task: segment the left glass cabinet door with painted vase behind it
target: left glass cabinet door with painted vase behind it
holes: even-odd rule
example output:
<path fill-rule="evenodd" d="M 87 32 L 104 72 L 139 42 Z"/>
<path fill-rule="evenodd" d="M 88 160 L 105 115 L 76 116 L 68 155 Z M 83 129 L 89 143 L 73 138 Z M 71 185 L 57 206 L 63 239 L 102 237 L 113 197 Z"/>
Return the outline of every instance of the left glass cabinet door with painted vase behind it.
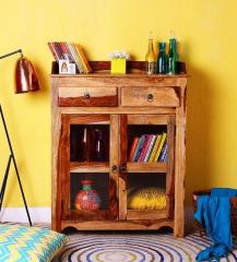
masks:
<path fill-rule="evenodd" d="M 117 169 L 110 163 L 117 166 L 115 126 L 115 116 L 62 115 L 62 219 L 117 218 Z"/>

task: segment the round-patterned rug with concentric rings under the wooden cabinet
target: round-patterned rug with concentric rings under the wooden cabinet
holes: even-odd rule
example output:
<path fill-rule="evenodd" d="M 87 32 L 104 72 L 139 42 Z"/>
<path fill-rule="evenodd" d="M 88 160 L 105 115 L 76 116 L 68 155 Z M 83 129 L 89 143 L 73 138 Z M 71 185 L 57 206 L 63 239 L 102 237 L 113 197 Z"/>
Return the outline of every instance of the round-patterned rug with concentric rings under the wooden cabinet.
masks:
<path fill-rule="evenodd" d="M 54 262 L 191 262 L 210 246 L 208 237 L 190 234 L 183 239 L 154 233 L 74 233 Z M 237 242 L 228 259 L 237 261 Z"/>

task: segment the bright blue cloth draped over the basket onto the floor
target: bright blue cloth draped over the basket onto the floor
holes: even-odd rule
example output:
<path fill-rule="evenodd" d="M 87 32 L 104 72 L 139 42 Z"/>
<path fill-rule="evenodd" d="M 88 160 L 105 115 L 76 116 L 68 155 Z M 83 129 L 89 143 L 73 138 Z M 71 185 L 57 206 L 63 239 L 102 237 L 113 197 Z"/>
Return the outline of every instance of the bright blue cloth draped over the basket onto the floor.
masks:
<path fill-rule="evenodd" d="M 213 246 L 202 250 L 195 258 L 201 261 L 220 261 L 232 250 L 230 203 L 237 190 L 227 188 L 212 189 L 211 195 L 198 196 L 194 218 L 205 228 Z"/>

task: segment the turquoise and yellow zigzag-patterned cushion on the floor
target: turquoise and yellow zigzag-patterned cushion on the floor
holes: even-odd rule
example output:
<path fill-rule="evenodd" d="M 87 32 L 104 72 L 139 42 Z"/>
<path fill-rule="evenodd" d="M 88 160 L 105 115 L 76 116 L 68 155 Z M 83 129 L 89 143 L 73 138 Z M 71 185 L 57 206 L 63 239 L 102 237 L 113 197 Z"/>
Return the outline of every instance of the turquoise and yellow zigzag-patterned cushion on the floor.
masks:
<path fill-rule="evenodd" d="M 67 242 L 47 228 L 0 224 L 0 262 L 48 262 Z"/>

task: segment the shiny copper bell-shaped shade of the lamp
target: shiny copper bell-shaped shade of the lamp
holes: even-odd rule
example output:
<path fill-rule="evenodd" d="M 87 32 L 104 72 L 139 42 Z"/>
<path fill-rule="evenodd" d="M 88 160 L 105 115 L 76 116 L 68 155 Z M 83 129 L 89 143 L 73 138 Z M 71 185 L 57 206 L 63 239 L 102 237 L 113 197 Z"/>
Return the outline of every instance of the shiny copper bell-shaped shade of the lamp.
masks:
<path fill-rule="evenodd" d="M 19 58 L 15 64 L 15 94 L 38 90 L 38 79 L 33 64 L 26 57 Z"/>

